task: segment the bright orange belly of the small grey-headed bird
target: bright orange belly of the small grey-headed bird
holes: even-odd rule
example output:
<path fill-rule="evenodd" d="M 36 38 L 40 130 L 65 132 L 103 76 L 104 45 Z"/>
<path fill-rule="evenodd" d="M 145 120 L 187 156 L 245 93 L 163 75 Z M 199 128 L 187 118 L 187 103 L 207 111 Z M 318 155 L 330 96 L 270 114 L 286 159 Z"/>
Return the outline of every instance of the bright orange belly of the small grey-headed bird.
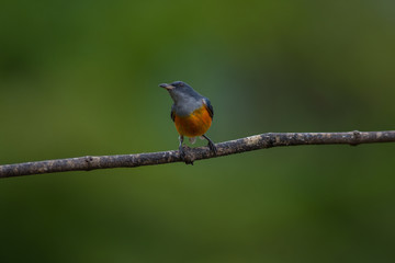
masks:
<path fill-rule="evenodd" d="M 205 108 L 202 106 L 201 108 L 195 110 L 191 115 L 180 117 L 174 116 L 176 128 L 182 136 L 195 137 L 204 135 L 210 128 L 212 123 L 212 118 Z"/>

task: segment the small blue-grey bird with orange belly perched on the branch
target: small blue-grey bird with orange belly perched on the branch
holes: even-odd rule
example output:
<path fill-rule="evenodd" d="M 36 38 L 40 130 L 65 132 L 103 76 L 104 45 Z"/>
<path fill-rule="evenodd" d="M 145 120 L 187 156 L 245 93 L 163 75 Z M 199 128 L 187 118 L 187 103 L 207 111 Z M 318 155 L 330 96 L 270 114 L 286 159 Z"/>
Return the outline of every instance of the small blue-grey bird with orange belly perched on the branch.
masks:
<path fill-rule="evenodd" d="M 174 81 L 171 84 L 162 83 L 159 87 L 168 90 L 174 102 L 171 106 L 171 119 L 180 135 L 181 158 L 185 157 L 182 148 L 184 136 L 189 137 L 191 144 L 195 142 L 196 137 L 208 140 L 208 148 L 216 155 L 217 150 L 214 142 L 205 135 L 214 115 L 210 100 L 182 81 Z"/>

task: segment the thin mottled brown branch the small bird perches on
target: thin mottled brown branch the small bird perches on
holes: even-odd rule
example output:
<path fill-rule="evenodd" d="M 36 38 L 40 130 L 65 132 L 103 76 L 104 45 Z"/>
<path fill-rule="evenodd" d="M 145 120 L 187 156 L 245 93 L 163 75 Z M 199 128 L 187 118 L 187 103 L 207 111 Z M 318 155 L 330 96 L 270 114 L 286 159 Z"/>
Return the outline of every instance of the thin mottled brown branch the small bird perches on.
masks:
<path fill-rule="evenodd" d="M 278 146 L 298 145 L 351 145 L 395 142 L 395 130 L 386 132 L 349 132 L 349 133 L 268 133 L 241 139 L 217 144 L 217 155 L 214 156 L 208 147 L 189 148 L 185 160 L 181 160 L 179 151 L 160 151 L 149 153 L 78 157 L 37 162 L 24 162 L 0 165 L 0 178 L 11 178 L 41 173 L 90 171 L 109 168 L 135 168 L 156 165 L 171 162 L 223 157 L 245 151 L 266 149 Z"/>

